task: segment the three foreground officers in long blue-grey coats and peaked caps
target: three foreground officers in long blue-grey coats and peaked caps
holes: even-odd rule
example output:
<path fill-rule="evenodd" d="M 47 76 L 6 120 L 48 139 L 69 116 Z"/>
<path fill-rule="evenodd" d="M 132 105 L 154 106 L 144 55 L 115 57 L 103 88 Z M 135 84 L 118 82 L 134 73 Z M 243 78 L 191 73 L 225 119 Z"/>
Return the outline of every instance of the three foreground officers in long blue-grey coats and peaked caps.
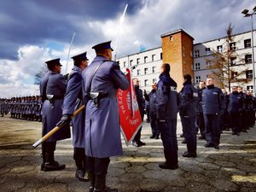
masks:
<path fill-rule="evenodd" d="M 116 192 L 106 186 L 106 175 L 110 157 L 123 154 L 116 94 L 118 89 L 128 89 L 129 81 L 119 64 L 112 61 L 111 41 L 92 49 L 96 57 L 90 65 L 86 52 L 72 57 L 73 69 L 67 79 L 61 75 L 60 59 L 46 61 L 49 72 L 40 83 L 42 133 L 46 135 L 55 125 L 61 130 L 42 143 L 41 171 L 66 167 L 55 161 L 55 147 L 57 141 L 71 137 L 72 121 L 75 177 L 89 180 L 90 192 Z M 83 105 L 82 112 L 73 117 Z"/>

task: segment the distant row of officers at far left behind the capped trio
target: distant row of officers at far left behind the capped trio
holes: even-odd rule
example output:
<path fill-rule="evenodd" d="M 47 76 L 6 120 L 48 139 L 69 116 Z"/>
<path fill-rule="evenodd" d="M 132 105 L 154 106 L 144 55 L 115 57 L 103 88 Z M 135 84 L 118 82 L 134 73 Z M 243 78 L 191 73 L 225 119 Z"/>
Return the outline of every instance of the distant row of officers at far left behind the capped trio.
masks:
<path fill-rule="evenodd" d="M 11 99 L 1 99 L 0 113 L 10 113 L 10 118 L 25 119 L 32 121 L 42 121 L 43 103 L 40 96 L 20 96 L 12 97 Z"/>

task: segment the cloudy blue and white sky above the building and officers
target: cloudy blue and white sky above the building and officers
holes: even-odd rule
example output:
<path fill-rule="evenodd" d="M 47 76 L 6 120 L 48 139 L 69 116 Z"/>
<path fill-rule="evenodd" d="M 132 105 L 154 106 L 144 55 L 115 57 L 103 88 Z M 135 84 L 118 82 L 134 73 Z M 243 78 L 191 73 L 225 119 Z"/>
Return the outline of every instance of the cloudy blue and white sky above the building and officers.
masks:
<path fill-rule="evenodd" d="M 87 51 L 92 61 L 91 47 L 108 40 L 119 58 L 158 48 L 160 35 L 180 28 L 194 44 L 224 37 L 230 23 L 233 34 L 250 31 L 241 11 L 255 6 L 255 0 L 1 0 L 0 98 L 39 94 L 34 77 L 45 61 L 61 58 L 66 74 L 71 56 Z"/>

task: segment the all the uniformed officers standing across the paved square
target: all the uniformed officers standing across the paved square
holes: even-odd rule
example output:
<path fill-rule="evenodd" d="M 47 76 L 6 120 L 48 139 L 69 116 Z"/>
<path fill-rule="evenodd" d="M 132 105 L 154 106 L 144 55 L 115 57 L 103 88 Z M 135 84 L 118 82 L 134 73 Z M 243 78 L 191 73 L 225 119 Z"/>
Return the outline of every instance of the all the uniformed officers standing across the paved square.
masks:
<path fill-rule="evenodd" d="M 54 135 L 42 143 L 43 163 L 41 171 L 65 169 L 64 164 L 55 161 L 56 142 L 70 138 L 70 122 L 73 124 L 73 159 L 77 170 L 75 177 L 80 181 L 90 181 L 90 192 L 117 192 L 106 186 L 106 176 L 110 157 L 123 154 L 119 109 L 116 94 L 118 89 L 127 90 L 129 81 L 121 72 L 119 64 L 112 61 L 111 42 L 92 47 L 96 57 L 88 65 L 86 52 L 73 56 L 73 69 L 65 78 L 61 75 L 60 59 L 46 61 L 49 72 L 40 83 L 40 97 L 12 98 L 8 108 L 12 118 L 38 119 L 42 114 L 42 136 L 55 125 L 61 127 Z M 206 139 L 206 148 L 218 149 L 221 131 L 232 128 L 233 135 L 239 135 L 255 123 L 255 98 L 250 91 L 232 87 L 225 92 L 214 86 L 214 79 L 207 78 L 200 88 L 192 85 L 192 77 L 183 75 L 183 88 L 177 92 L 177 83 L 170 77 L 171 67 L 164 63 L 160 67 L 160 77 L 152 91 L 144 94 L 148 102 L 152 136 L 161 138 L 166 161 L 160 163 L 162 169 L 177 169 L 177 113 L 179 112 L 184 143 L 187 151 L 183 157 L 197 156 L 197 131 L 200 139 Z M 133 79 L 137 102 L 143 119 L 145 100 L 139 80 Z M 1 103 L 5 103 L 3 101 Z M 43 105 L 42 105 L 43 103 Z M 81 113 L 73 118 L 73 113 L 84 105 Z M 1 104 L 1 113 L 5 105 Z M 39 110 L 40 109 L 40 110 Z M 42 109 L 42 110 L 41 110 Z M 41 113 L 40 113 L 41 112 Z M 8 113 L 8 112 L 7 112 Z M 137 131 L 132 144 L 142 147 L 141 129 Z"/>

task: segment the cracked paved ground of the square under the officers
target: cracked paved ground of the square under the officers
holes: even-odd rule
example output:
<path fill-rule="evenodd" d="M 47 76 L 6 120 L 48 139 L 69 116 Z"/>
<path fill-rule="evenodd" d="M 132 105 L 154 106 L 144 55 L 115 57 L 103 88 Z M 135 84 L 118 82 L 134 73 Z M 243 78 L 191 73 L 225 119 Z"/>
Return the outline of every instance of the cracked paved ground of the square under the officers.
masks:
<path fill-rule="evenodd" d="M 177 135 L 181 132 L 178 123 Z M 41 135 L 41 123 L 0 117 L 0 191 L 76 192 L 88 191 L 89 183 L 74 178 L 71 140 L 57 143 L 55 159 L 67 168 L 60 172 L 40 171 L 40 147 L 32 148 Z M 161 170 L 164 161 L 161 140 L 149 139 L 143 125 L 142 148 L 126 147 L 124 155 L 113 158 L 108 169 L 108 185 L 119 192 L 169 191 L 256 191 L 256 128 L 241 136 L 224 131 L 220 149 L 204 148 L 198 141 L 198 157 L 183 158 L 186 150 L 178 139 L 179 168 Z"/>

